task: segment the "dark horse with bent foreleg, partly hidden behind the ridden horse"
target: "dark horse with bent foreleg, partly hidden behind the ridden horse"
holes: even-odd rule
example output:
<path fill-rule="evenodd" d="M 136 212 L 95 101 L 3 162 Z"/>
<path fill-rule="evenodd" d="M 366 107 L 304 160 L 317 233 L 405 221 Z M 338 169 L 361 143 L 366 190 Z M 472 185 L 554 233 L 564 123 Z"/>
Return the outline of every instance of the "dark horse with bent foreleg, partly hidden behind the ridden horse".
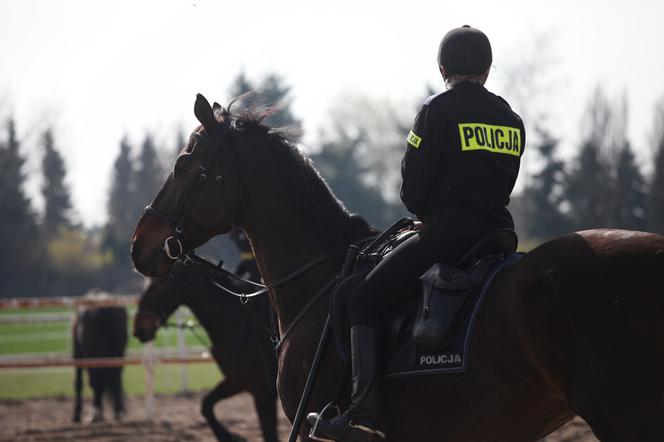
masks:
<path fill-rule="evenodd" d="M 258 420 L 266 442 L 277 437 L 277 361 L 269 336 L 252 320 L 240 300 L 220 293 L 200 277 L 192 264 L 174 264 L 173 275 L 152 278 L 141 294 L 134 317 L 134 336 L 141 342 L 155 338 L 157 329 L 180 306 L 191 309 L 212 341 L 211 353 L 224 378 L 201 402 L 201 414 L 220 442 L 241 439 L 217 420 L 214 405 L 243 391 L 254 399 Z M 267 297 L 253 300 L 256 314 L 264 324 L 271 315 Z"/>

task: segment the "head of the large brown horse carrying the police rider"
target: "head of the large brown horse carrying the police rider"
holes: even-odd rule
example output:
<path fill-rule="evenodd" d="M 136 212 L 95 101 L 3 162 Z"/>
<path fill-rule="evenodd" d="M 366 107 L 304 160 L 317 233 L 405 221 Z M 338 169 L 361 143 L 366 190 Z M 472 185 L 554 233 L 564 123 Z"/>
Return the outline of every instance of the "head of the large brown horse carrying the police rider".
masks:
<path fill-rule="evenodd" d="M 201 94 L 194 114 L 201 125 L 132 236 L 132 261 L 146 276 L 167 274 L 180 256 L 230 231 L 238 216 L 233 195 L 238 195 L 240 180 L 228 167 L 233 155 L 230 114 L 217 103 L 210 106 Z"/>

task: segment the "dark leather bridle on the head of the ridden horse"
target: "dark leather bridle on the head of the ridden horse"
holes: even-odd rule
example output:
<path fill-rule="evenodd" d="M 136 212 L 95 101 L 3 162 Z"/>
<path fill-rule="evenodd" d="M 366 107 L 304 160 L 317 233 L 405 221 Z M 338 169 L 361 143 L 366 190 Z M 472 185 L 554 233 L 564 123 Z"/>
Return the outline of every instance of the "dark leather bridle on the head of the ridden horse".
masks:
<path fill-rule="evenodd" d="M 143 211 L 144 215 L 153 216 L 154 218 L 157 218 L 160 222 L 170 226 L 172 234 L 164 240 L 163 251 L 171 261 L 176 261 L 182 255 L 184 255 L 185 252 L 188 250 L 188 248 L 186 248 L 183 245 L 183 240 L 182 240 L 183 238 L 182 234 L 184 233 L 184 226 L 187 220 L 189 219 L 191 209 L 194 207 L 194 204 L 196 203 L 198 196 L 200 195 L 201 191 L 203 190 L 203 187 L 205 186 L 205 183 L 207 182 L 208 172 L 211 170 L 211 168 L 215 167 L 215 169 L 217 169 L 216 170 L 217 175 L 215 177 L 215 181 L 217 183 L 221 183 L 222 181 L 221 173 L 219 173 L 218 167 L 216 167 L 217 165 L 214 160 L 217 155 L 217 152 L 221 150 L 221 146 L 229 131 L 230 124 L 231 124 L 230 117 L 224 118 L 224 121 L 221 123 L 221 127 L 219 127 L 217 135 L 212 141 L 210 141 L 210 139 L 206 135 L 200 132 L 194 133 L 193 136 L 197 140 L 196 144 L 198 144 L 199 141 L 211 144 L 212 152 L 210 152 L 210 156 L 200 167 L 198 172 L 198 178 L 189 188 L 188 192 L 185 194 L 184 205 L 182 205 L 182 207 L 180 207 L 180 210 L 176 212 L 176 216 L 174 217 L 175 221 L 173 221 L 168 216 L 166 216 L 162 212 L 152 207 L 151 204 L 148 204 L 145 207 L 145 210 Z"/>

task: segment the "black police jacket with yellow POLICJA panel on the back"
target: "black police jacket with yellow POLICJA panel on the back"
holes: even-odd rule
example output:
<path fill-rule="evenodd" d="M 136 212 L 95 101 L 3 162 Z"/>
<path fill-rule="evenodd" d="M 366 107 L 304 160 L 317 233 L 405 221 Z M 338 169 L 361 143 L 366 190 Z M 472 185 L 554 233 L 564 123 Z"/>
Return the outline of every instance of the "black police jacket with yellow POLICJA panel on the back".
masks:
<path fill-rule="evenodd" d="M 434 95 L 408 135 L 401 199 L 446 234 L 513 228 L 506 206 L 525 141 L 521 118 L 483 86 L 460 83 Z"/>

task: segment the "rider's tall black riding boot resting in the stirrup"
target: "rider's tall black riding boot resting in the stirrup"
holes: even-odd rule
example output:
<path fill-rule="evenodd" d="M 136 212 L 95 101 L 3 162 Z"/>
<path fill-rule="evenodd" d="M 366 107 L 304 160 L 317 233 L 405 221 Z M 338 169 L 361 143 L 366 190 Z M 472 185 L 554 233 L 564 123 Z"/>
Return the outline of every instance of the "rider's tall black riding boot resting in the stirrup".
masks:
<path fill-rule="evenodd" d="M 367 325 L 351 327 L 350 347 L 353 367 L 350 407 L 329 421 L 321 419 L 318 433 L 335 441 L 366 442 L 372 435 L 384 438 L 385 433 L 378 429 L 382 398 L 376 329 Z M 307 420 L 314 424 L 318 413 L 309 414 Z"/>

